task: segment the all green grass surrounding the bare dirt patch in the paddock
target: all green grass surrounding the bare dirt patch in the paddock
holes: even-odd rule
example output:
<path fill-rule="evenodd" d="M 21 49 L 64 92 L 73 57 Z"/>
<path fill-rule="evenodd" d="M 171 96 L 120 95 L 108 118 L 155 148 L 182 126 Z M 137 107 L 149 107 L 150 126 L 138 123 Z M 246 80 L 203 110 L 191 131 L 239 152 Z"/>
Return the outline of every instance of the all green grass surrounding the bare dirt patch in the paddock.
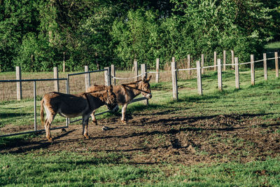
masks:
<path fill-rule="evenodd" d="M 223 73 L 223 91 L 219 92 L 217 74 L 208 72 L 202 78 L 202 96 L 197 95 L 195 78 L 179 80 L 177 102 L 172 99 L 172 83 L 153 83 L 150 105 L 145 106 L 143 102 L 130 104 L 127 113 L 145 111 L 152 114 L 154 111 L 169 110 L 173 116 L 251 114 L 277 120 L 280 113 L 280 79 L 274 77 L 274 70 L 268 73 L 268 81 L 264 81 L 262 70 L 257 69 L 255 85 L 251 85 L 248 69 L 241 71 L 241 89 L 236 90 L 234 71 L 226 71 Z M 33 123 L 33 101 L 2 102 L 0 113 L 0 126 Z M 98 118 L 112 115 L 107 113 Z M 64 118 L 57 118 L 55 123 L 60 120 Z M 209 137 L 211 141 L 225 141 L 212 135 Z M 0 148 L 34 136 L 0 138 Z M 156 141 L 165 141 L 165 137 L 159 134 Z M 251 146 L 244 139 L 227 141 L 235 142 L 236 146 Z M 197 153 L 207 155 L 207 152 Z M 280 158 L 256 159 L 246 164 L 236 160 L 190 167 L 165 162 L 130 165 L 128 160 L 130 158 L 122 152 L 61 153 L 42 150 L 41 153 L 0 154 L 0 186 L 279 186 L 280 183 Z"/>

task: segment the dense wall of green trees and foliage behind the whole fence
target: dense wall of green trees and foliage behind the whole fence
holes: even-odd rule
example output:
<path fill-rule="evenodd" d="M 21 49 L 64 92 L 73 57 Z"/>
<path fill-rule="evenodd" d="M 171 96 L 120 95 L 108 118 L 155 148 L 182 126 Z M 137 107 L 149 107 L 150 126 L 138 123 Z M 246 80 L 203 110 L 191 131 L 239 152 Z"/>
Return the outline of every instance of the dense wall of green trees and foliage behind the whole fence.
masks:
<path fill-rule="evenodd" d="M 161 65 L 172 56 L 235 50 L 241 60 L 277 41 L 280 2 L 262 0 L 0 1 L 0 69 L 48 71 Z"/>

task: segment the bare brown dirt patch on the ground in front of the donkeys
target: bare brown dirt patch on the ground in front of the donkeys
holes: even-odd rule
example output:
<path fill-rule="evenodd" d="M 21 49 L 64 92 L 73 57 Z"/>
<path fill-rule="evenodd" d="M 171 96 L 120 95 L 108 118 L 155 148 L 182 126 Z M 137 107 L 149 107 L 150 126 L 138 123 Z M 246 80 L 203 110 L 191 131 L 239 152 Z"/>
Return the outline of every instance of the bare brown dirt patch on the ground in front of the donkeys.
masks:
<path fill-rule="evenodd" d="M 250 114 L 188 117 L 161 109 L 128 115 L 127 125 L 123 125 L 119 114 L 99 120 L 99 125 L 90 123 L 90 139 L 83 138 L 81 125 L 70 125 L 65 131 L 52 130 L 52 142 L 41 134 L 2 146 L 0 153 L 103 151 L 123 155 L 120 162 L 130 164 L 183 165 L 277 157 L 280 155 L 280 120 L 260 117 Z M 109 130 L 102 130 L 104 125 Z"/>

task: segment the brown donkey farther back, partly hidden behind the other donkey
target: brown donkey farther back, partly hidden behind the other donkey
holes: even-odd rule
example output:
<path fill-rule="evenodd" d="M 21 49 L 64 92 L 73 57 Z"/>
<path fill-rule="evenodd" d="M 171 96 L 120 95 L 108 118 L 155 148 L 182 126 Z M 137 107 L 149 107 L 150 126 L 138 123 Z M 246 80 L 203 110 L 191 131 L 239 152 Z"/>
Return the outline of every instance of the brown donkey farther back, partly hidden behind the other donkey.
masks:
<path fill-rule="evenodd" d="M 126 84 L 122 84 L 122 85 L 116 85 L 113 86 L 113 92 L 116 94 L 117 97 L 117 102 L 120 105 L 123 105 L 123 109 L 122 109 L 122 119 L 121 122 L 123 124 L 126 124 L 126 120 L 125 120 L 125 112 L 127 110 L 127 105 L 130 104 L 130 102 L 132 102 L 132 99 L 134 99 L 134 97 L 137 97 L 137 95 L 139 95 L 140 93 L 146 97 L 147 99 L 151 99 L 152 98 L 152 94 L 151 94 L 151 88 L 150 88 L 150 80 L 151 80 L 150 76 L 149 78 L 146 78 L 146 76 L 140 80 L 140 81 L 135 81 L 133 83 L 126 83 Z M 93 85 L 90 88 L 87 88 L 87 92 L 92 92 L 95 90 L 104 90 L 106 89 L 106 85 Z M 92 122 L 97 125 L 97 120 L 94 116 L 95 110 L 92 111 L 91 117 L 92 117 Z"/>

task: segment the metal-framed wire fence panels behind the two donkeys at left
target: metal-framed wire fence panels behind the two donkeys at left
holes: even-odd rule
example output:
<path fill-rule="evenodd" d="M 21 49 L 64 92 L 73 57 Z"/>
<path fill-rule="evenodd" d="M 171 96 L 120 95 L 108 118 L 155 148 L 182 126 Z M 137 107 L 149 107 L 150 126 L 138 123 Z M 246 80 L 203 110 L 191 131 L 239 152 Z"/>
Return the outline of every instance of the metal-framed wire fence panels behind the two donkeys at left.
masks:
<path fill-rule="evenodd" d="M 141 74 L 139 75 L 141 76 Z M 137 76 L 137 77 L 139 77 Z M 7 102 L 8 99 L 18 99 L 19 101 L 22 98 L 31 98 L 30 93 L 33 93 L 33 102 L 34 102 L 34 125 L 33 125 L 33 130 L 31 130 L 32 125 L 24 125 L 24 127 L 20 127 L 19 130 L 22 132 L 17 132 L 18 129 L 14 127 L 14 125 L 4 125 L 4 127 L 1 127 L 2 124 L 0 122 L 0 137 L 9 137 L 9 136 L 15 136 L 15 135 L 20 135 L 20 134 L 29 134 L 29 133 L 34 133 L 34 132 L 43 132 L 45 131 L 43 127 L 37 126 L 37 117 L 38 117 L 38 99 L 41 99 L 41 95 L 44 95 L 46 92 L 49 92 L 49 90 L 57 90 L 57 91 L 62 91 L 61 88 L 64 88 L 63 92 L 75 94 L 77 92 L 85 92 L 87 87 L 91 85 L 91 83 L 97 83 L 97 84 L 105 84 L 105 85 L 110 85 L 110 79 L 111 79 L 111 74 L 109 74 L 109 69 L 102 69 L 102 70 L 96 70 L 96 71 L 85 71 L 85 72 L 80 72 L 80 73 L 75 73 L 75 74 L 67 74 L 67 78 L 50 78 L 50 79 L 20 79 L 20 80 L 0 80 L 0 84 L 2 86 L 4 84 L 10 83 L 14 88 L 17 89 L 10 89 L 10 87 L 3 86 L 3 88 L 0 92 L 1 99 L 3 101 Z M 122 78 L 123 80 L 128 80 L 130 78 Z M 100 81 L 102 80 L 102 81 Z M 60 83 L 61 81 L 64 81 L 64 84 Z M 26 83 L 26 84 L 23 84 Z M 41 85 L 44 86 L 43 92 L 38 92 L 38 83 L 41 83 Z M 33 86 L 32 86 L 33 84 Z M 55 85 L 55 86 L 54 86 Z M 64 86 L 62 86 L 64 85 Z M 23 88 L 23 89 L 22 89 Z M 60 89 L 59 89 L 60 88 Z M 10 92 L 13 90 L 12 92 Z M 25 90 L 28 90 L 28 94 L 25 95 Z M 8 95 L 15 95 L 15 97 L 4 97 L 4 92 L 7 92 Z M 39 96 L 39 97 L 38 97 Z M 142 100 L 145 100 L 146 98 L 141 97 L 132 100 L 132 102 L 139 102 Z M 5 104 L 5 102 L 3 102 Z M 19 103 L 23 104 L 23 103 Z M 30 108 L 30 107 L 29 107 Z M 109 112 L 109 110 L 102 111 L 100 113 L 96 113 L 95 116 L 102 115 L 104 113 Z M 1 115 L 4 118 L 10 118 L 8 113 L 3 113 Z M 11 114 L 13 116 L 13 113 Z M 20 114 L 21 117 L 24 118 L 31 118 L 31 114 Z M 74 118 L 74 120 L 70 120 L 69 118 L 66 118 L 66 125 L 61 125 L 60 126 L 55 126 L 52 127 L 51 130 L 56 130 L 56 129 L 62 129 L 69 127 L 70 123 L 75 123 L 82 120 L 81 118 Z M 29 120 L 30 123 L 30 120 Z M 57 125 L 59 125 L 57 124 Z"/>

